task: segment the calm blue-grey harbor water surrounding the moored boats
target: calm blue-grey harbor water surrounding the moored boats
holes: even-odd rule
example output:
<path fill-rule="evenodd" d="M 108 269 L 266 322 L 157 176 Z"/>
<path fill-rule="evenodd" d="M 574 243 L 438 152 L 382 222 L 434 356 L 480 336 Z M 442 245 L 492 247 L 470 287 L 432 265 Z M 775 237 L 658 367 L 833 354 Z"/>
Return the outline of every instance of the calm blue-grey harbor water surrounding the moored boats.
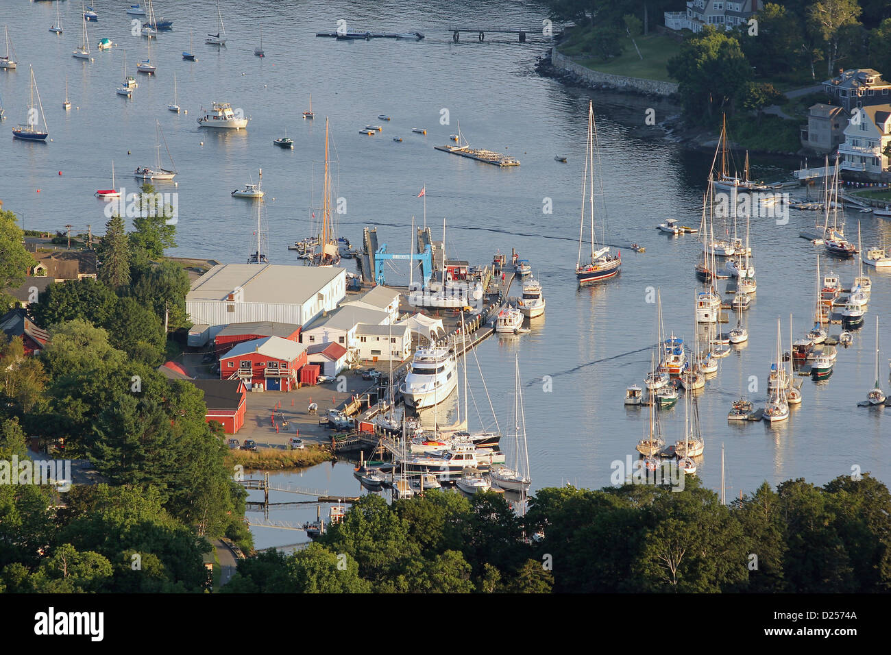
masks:
<path fill-rule="evenodd" d="M 535 58 L 547 47 L 543 40 L 519 45 L 516 37 L 489 34 L 480 44 L 475 36 L 465 35 L 454 44 L 446 31 L 458 17 L 482 26 L 540 25 L 544 12 L 535 4 L 495 2 L 482 10 L 467 2 L 371 6 L 259 0 L 227 10 L 231 3 L 224 3 L 229 43 L 217 50 L 203 42 L 215 26 L 213 3 L 159 2 L 156 12 L 175 20 L 175 31 L 153 41 L 151 59 L 158 75 L 140 75 L 139 88 L 127 101 L 115 94 L 123 53 L 126 50 L 130 74 L 146 54 L 146 39 L 129 34 L 128 4 L 100 3 L 100 22 L 90 25 L 91 45 L 110 37 L 116 47 L 95 53 L 95 61 L 86 64 L 71 57 L 80 40 L 79 4 L 61 4 L 65 33 L 56 37 L 48 31 L 55 18 L 53 4 L 0 2 L 0 23 L 9 24 L 20 62 L 16 71 L 0 71 L 0 96 L 8 117 L 0 138 L 0 197 L 6 209 L 23 212 L 29 228 L 59 229 L 71 223 L 78 232 L 86 232 L 86 225 L 101 231 L 106 218 L 93 192 L 110 184 L 112 160 L 118 184 L 135 191 L 136 181 L 129 174 L 137 165 L 154 161 L 159 119 L 179 170 L 176 187 L 159 184 L 161 191 L 179 192 L 178 248 L 170 254 L 245 261 L 256 218 L 249 203 L 232 199 L 229 192 L 249 176 L 256 181 L 257 168 L 263 168 L 270 260 L 297 263 L 286 247 L 310 229 L 313 189 L 317 198 L 321 184 L 327 116 L 332 159 L 339 161 L 336 194 L 347 201 L 346 213 L 338 217 L 341 234 L 360 242 L 364 225 L 378 225 L 380 242 L 388 242 L 391 251 L 405 251 L 412 216 L 423 221 L 422 200 L 416 196 L 426 184 L 427 220 L 440 238 L 442 220 L 447 219 L 450 257 L 486 263 L 496 250 L 516 248 L 532 261 L 548 303 L 544 320 L 519 337 L 486 340 L 477 352 L 495 411 L 506 430 L 512 423 L 513 356 L 519 352 L 534 487 L 566 481 L 584 487 L 609 484 L 610 463 L 634 453 L 646 430 L 646 413 L 626 410 L 622 400 L 625 386 L 641 383 L 650 365 L 650 351 L 640 351 L 655 336 L 656 309 L 646 302 L 648 288 L 661 289 L 666 330 L 688 340 L 693 336 L 697 283 L 692 267 L 701 246 L 695 235 L 666 238 L 653 226 L 666 217 L 699 224 L 711 153 L 638 137 L 647 101 L 566 88 L 536 75 Z M 349 29 L 420 30 L 427 38 L 338 42 L 315 37 L 318 30 L 336 29 L 339 19 L 347 20 Z M 253 55 L 261 23 L 265 59 Z M 194 63 L 180 55 L 189 47 L 190 26 L 192 50 L 199 58 Z M 37 76 L 53 143 L 9 138 L 7 130 L 24 117 L 29 64 Z M 179 104 L 188 113 L 167 111 L 174 73 Z M 66 78 L 74 105 L 69 112 L 61 110 Z M 316 119 L 304 121 L 300 115 L 310 94 Z M 640 242 L 647 252 L 623 250 L 620 277 L 580 291 L 573 266 L 589 98 L 600 134 L 609 241 Z M 241 108 L 251 118 L 248 130 L 199 130 L 200 108 L 214 100 Z M 443 110 L 449 125 L 440 124 Z M 392 120 L 383 123 L 380 135 L 358 134 L 364 125 L 380 123 L 381 113 Z M 433 145 L 449 143 L 458 121 L 471 145 L 510 153 L 522 165 L 501 170 L 434 151 Z M 412 127 L 427 127 L 428 134 L 412 134 Z M 294 151 L 281 151 L 272 143 L 285 130 L 295 141 Z M 405 141 L 395 143 L 394 135 Z M 567 155 L 568 164 L 555 162 L 555 154 Z M 753 159 L 756 176 L 771 180 L 788 178 L 795 164 L 787 162 L 782 168 Z M 546 198 L 552 201 L 549 215 L 542 210 Z M 848 233 L 855 233 L 856 221 L 862 220 L 864 244 L 891 241 L 891 224 L 856 213 L 847 218 Z M 761 382 L 759 392 L 749 396 L 764 404 L 777 317 L 782 318 L 785 348 L 790 312 L 796 336 L 809 327 L 815 249 L 797 233 L 813 219 L 809 212 L 793 210 L 789 225 L 753 221 L 758 291 L 747 316 L 748 344 L 734 348 L 699 394 L 706 439 L 699 475 L 708 487 L 719 487 L 723 444 L 728 496 L 748 492 L 765 479 L 776 484 L 805 477 L 822 484 L 850 473 L 853 466 L 886 482 L 891 479 L 891 417 L 856 406 L 873 381 L 877 314 L 884 342 L 880 377 L 887 385 L 891 274 L 870 272 L 873 291 L 864 328 L 854 346 L 839 353 L 830 381 L 805 379 L 804 403 L 792 409 L 789 422 L 771 427 L 726 421 L 732 400 L 748 387 L 749 376 Z M 824 270 L 830 266 L 848 284 L 856 274 L 855 262 L 825 262 Z M 405 274 L 405 268 L 396 269 L 388 279 L 401 282 Z M 830 332 L 839 330 L 834 326 Z M 551 392 L 543 390 L 545 376 L 551 376 Z M 490 421 L 472 360 L 470 387 L 484 422 Z M 470 417 L 471 424 L 478 423 L 472 409 Z M 666 440 L 679 438 L 683 403 L 662 418 Z M 348 465 L 279 477 L 330 488 L 331 493 L 356 493 L 358 487 Z M 315 518 L 314 508 L 272 512 L 282 520 Z M 257 545 L 290 543 L 291 536 L 295 542 L 303 540 L 299 533 L 260 528 Z"/>

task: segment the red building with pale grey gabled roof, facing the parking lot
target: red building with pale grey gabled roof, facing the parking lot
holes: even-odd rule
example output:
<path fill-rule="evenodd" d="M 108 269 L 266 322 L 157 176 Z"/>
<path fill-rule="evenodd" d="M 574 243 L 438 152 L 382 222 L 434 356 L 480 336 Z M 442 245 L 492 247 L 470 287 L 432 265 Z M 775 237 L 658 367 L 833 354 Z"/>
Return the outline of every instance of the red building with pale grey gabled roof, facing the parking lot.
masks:
<path fill-rule="evenodd" d="M 248 389 L 290 391 L 298 388 L 298 371 L 307 364 L 307 349 L 282 337 L 244 341 L 220 357 L 220 380 L 241 380 Z"/>

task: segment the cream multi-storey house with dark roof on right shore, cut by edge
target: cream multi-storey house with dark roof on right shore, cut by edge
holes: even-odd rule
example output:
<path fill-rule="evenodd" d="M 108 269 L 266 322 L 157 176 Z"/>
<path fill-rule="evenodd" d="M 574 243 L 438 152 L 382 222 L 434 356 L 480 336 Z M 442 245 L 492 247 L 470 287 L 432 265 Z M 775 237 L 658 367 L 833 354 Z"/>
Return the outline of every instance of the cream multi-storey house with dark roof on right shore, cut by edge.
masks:
<path fill-rule="evenodd" d="M 883 152 L 891 143 L 891 104 L 855 107 L 845 128 L 845 142 L 838 145 L 842 171 L 878 179 L 888 169 Z"/>

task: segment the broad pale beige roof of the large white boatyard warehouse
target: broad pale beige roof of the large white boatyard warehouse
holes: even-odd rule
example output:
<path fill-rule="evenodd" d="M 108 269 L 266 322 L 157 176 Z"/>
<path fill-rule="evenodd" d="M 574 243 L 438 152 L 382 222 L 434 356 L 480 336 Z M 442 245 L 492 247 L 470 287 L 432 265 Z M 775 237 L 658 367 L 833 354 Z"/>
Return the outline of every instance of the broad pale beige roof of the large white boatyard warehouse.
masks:
<path fill-rule="evenodd" d="M 300 305 L 345 271 L 337 266 L 218 264 L 192 282 L 185 299 L 223 301 L 241 288 L 242 302 Z"/>

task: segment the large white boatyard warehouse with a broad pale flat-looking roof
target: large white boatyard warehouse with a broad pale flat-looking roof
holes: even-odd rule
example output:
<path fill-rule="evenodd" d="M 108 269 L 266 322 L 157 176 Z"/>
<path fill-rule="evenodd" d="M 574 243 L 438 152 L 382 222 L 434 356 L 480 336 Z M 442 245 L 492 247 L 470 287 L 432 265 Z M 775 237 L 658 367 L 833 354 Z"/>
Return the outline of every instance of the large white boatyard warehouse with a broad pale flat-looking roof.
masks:
<path fill-rule="evenodd" d="M 185 309 L 195 325 L 190 346 L 203 346 L 230 323 L 306 325 L 331 312 L 347 292 L 337 266 L 218 264 L 192 282 Z"/>

